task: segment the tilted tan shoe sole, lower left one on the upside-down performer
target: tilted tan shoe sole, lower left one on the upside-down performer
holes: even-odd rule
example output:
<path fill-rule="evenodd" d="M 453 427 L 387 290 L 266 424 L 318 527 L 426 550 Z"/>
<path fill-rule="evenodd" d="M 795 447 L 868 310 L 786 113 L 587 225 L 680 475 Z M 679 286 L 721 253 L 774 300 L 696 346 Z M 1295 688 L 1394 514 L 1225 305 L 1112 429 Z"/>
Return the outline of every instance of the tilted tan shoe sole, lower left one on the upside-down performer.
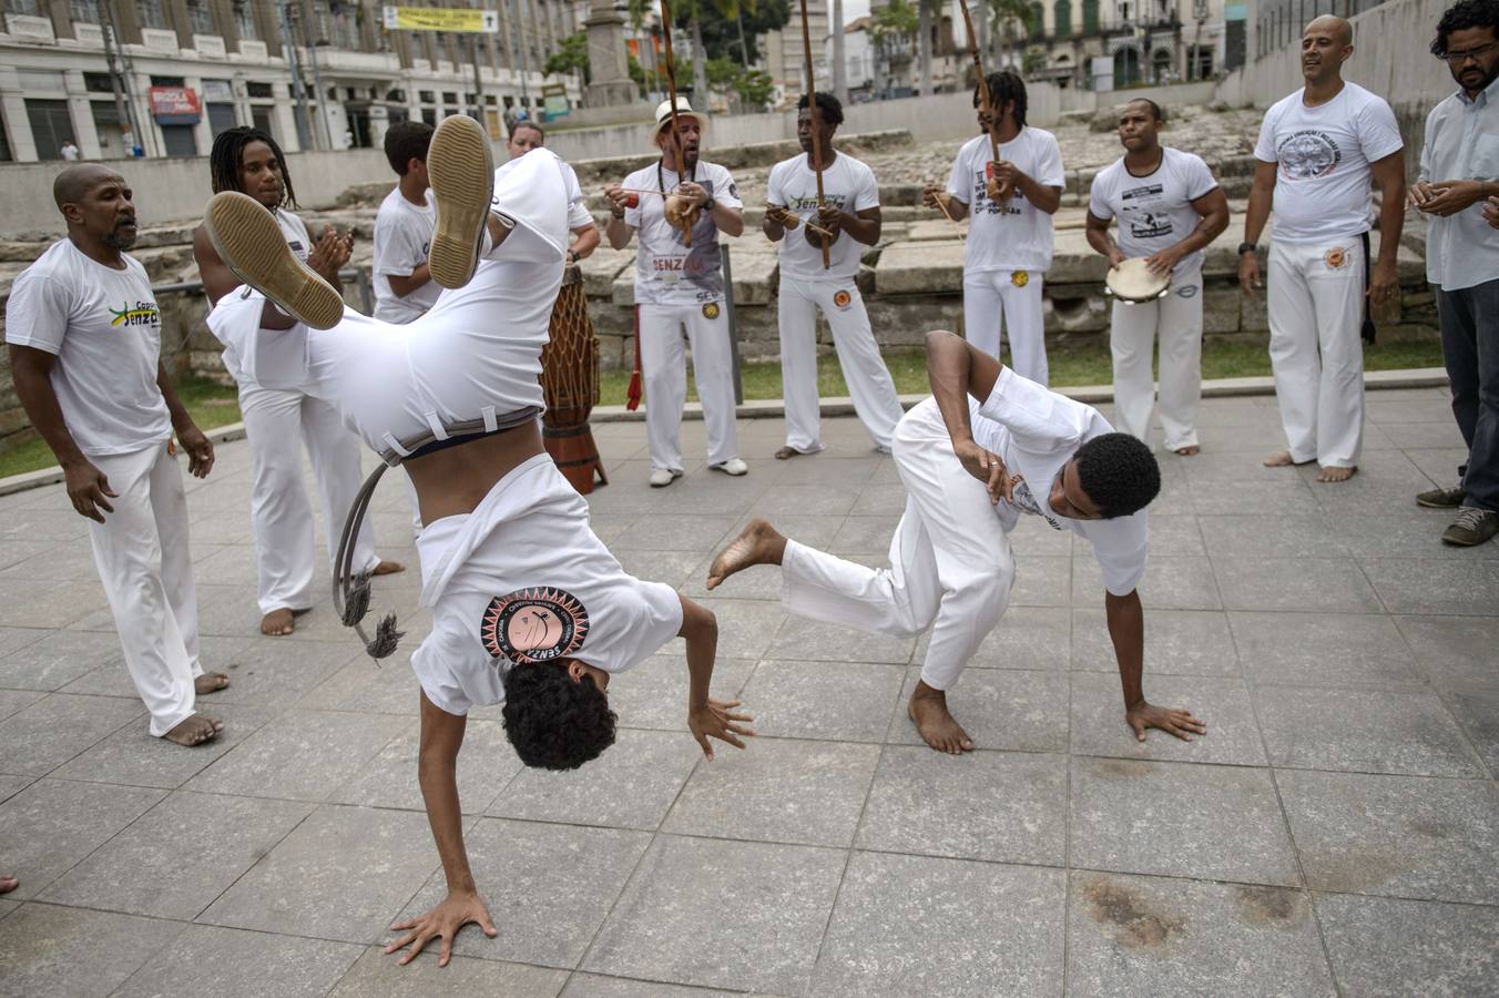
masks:
<path fill-rule="evenodd" d="M 298 322 L 331 330 L 343 319 L 343 297 L 297 259 L 276 217 L 259 201 L 237 190 L 216 193 L 208 199 L 202 226 L 234 276 Z"/>

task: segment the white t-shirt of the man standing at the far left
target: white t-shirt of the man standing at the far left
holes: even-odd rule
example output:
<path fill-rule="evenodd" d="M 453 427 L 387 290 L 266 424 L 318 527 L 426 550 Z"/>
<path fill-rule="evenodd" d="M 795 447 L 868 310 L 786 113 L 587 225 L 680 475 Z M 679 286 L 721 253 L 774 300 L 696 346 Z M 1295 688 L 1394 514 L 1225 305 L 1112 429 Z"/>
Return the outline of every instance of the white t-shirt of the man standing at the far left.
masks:
<path fill-rule="evenodd" d="M 156 384 L 162 316 L 145 268 L 114 270 L 63 238 L 10 285 L 6 342 L 57 357 L 52 391 L 84 454 L 129 454 L 172 435 Z"/>

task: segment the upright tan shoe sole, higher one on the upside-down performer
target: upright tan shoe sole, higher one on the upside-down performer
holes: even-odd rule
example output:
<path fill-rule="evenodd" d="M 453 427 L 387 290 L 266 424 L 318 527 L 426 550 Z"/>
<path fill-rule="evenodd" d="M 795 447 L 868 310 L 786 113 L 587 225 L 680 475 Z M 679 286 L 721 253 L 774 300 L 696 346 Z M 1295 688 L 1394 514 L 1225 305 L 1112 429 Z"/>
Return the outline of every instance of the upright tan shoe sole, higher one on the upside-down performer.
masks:
<path fill-rule="evenodd" d="M 462 288 L 478 267 L 495 196 L 495 157 L 478 121 L 453 115 L 438 124 L 427 148 L 427 181 L 438 207 L 427 267 L 442 288 Z"/>

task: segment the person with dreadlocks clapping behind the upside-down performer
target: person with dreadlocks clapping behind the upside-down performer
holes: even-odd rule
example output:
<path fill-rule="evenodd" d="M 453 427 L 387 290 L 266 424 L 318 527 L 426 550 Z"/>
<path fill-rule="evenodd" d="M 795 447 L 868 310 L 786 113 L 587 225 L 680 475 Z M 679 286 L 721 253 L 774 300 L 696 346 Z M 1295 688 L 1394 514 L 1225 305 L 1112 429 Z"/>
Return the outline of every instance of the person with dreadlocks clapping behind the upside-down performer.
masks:
<path fill-rule="evenodd" d="M 282 231 L 282 240 L 324 280 L 342 289 L 339 270 L 349 259 L 352 235 L 339 235 L 324 226 L 313 243 L 307 226 L 288 211 L 297 207 L 286 157 L 265 132 L 234 127 L 220 132 L 208 154 L 213 189 L 237 190 L 261 204 Z M 238 286 L 240 280 L 219 259 L 208 232 L 193 232 L 193 258 L 210 304 Z M 238 312 L 244 321 L 253 321 Z M 250 524 L 255 533 L 255 569 L 261 607 L 261 634 L 274 637 L 295 629 L 294 617 L 312 608 L 313 535 L 312 506 L 301 484 L 300 441 L 312 457 L 313 475 L 322 496 L 322 523 L 331 557 L 343 514 L 360 490 L 360 447 L 339 423 L 337 411 L 300 387 L 280 382 L 273 388 L 274 372 L 258 364 L 277 364 L 280 358 L 247 358 L 223 336 L 223 366 L 240 387 L 240 412 L 250 441 L 255 492 L 250 498 Z M 288 358 L 295 364 L 297 358 Z M 387 575 L 402 571 L 399 562 L 384 562 L 375 553 L 369 527 L 361 529 L 355 547 L 358 571 Z"/>

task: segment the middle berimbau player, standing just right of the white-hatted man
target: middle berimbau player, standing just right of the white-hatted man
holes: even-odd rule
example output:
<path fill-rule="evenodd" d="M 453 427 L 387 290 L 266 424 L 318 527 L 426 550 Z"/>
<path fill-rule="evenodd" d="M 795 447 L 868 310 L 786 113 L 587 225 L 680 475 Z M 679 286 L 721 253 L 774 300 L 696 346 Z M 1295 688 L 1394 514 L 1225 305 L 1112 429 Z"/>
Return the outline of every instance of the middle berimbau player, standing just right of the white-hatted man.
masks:
<path fill-rule="evenodd" d="M 901 400 L 869 328 L 869 313 L 854 283 L 865 246 L 880 241 L 880 189 L 874 171 L 847 153 L 833 150 L 842 124 L 842 105 L 830 93 L 817 94 L 821 135 L 814 142 L 812 112 L 802 94 L 796 136 L 805 156 L 770 168 L 763 229 L 781 244 L 781 291 L 776 318 L 781 325 L 781 385 L 785 393 L 785 447 L 781 460 L 823 450 L 817 397 L 817 312 L 838 351 L 853 409 L 880 451 L 890 453 Z M 817 207 L 815 150 L 821 148 L 823 201 Z M 815 222 L 830 232 L 829 267 L 823 267 L 823 235 L 805 225 L 787 226 L 788 214 Z"/>

